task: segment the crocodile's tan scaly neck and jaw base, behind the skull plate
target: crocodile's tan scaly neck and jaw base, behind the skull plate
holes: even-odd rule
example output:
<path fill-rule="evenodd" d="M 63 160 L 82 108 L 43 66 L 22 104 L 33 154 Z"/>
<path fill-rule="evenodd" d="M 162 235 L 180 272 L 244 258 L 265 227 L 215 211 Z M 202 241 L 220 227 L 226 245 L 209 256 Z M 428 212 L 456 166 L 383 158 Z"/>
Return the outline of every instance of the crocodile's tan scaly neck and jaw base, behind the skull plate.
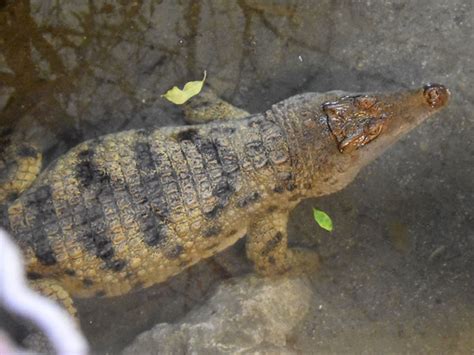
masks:
<path fill-rule="evenodd" d="M 315 93 L 294 96 L 266 114 L 286 133 L 296 185 L 292 201 L 339 191 L 362 167 L 356 157 L 337 149 L 321 109 L 329 98 Z"/>

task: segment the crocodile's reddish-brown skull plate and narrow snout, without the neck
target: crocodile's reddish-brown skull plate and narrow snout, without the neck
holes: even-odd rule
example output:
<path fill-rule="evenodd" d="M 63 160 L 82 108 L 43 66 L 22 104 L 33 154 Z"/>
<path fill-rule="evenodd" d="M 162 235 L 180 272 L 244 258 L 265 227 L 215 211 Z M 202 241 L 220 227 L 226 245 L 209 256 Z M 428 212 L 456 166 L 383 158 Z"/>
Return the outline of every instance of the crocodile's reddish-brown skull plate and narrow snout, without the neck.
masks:
<path fill-rule="evenodd" d="M 391 94 L 348 95 L 322 105 L 340 154 L 368 163 L 449 100 L 439 84 Z"/>

